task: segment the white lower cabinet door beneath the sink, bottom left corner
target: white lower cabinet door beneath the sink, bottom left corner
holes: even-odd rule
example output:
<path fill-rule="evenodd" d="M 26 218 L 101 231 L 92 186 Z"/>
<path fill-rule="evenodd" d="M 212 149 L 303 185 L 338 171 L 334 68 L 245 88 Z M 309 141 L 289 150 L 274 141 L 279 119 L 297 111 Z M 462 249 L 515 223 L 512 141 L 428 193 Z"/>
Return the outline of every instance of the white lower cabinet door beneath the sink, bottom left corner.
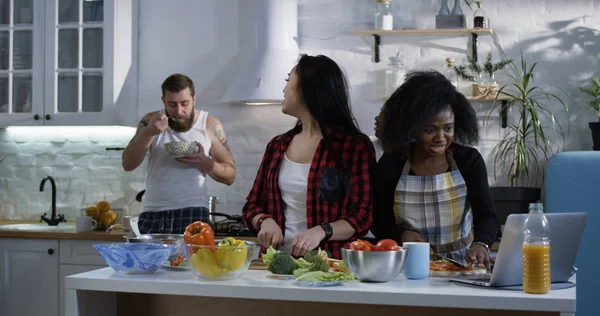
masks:
<path fill-rule="evenodd" d="M 0 238 L 0 315 L 58 316 L 58 241 Z"/>

